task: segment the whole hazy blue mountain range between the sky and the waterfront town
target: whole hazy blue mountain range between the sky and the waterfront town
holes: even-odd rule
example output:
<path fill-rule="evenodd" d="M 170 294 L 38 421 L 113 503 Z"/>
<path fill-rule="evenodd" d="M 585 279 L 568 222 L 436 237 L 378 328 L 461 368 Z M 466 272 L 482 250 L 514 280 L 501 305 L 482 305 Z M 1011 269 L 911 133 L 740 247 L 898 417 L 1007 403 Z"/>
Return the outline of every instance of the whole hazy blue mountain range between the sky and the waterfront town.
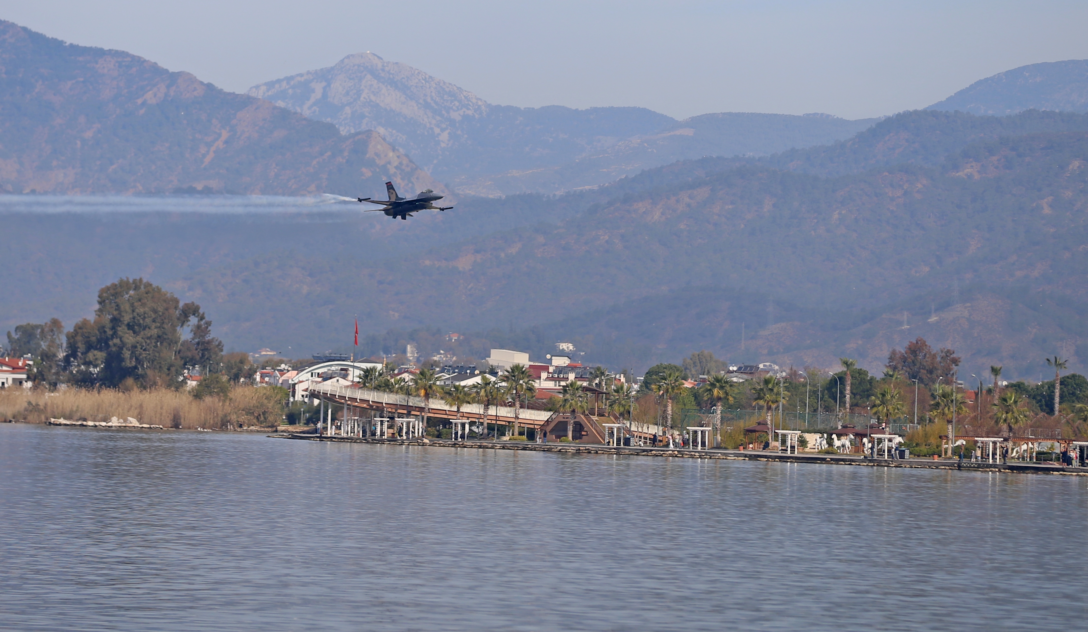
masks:
<path fill-rule="evenodd" d="M 1001 116 L 950 98 L 675 121 L 492 106 L 353 58 L 255 88 L 281 107 L 0 23 L 0 188 L 38 191 L 0 196 L 0 327 L 70 324 L 140 275 L 200 302 L 230 347 L 296 356 L 345 348 L 359 314 L 367 352 L 458 331 L 466 349 L 562 339 L 635 370 L 704 348 L 875 369 L 923 335 L 976 372 L 1088 364 L 1088 115 L 1042 111 L 1075 92 L 1075 63 L 1067 89 L 1054 73 L 1005 101 L 1009 80 L 975 89 Z M 313 197 L 40 195 L 373 195 L 386 176 L 457 205 L 396 222 Z"/>

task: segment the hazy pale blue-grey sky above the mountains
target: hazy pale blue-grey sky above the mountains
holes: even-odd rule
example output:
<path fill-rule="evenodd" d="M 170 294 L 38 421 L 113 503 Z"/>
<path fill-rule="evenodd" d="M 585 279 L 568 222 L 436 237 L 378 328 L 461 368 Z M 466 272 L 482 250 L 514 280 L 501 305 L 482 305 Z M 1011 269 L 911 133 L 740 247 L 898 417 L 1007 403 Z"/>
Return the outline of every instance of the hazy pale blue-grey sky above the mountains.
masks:
<path fill-rule="evenodd" d="M 1088 58 L 1088 2 L 0 0 L 228 90 L 372 51 L 493 103 L 875 116 Z"/>

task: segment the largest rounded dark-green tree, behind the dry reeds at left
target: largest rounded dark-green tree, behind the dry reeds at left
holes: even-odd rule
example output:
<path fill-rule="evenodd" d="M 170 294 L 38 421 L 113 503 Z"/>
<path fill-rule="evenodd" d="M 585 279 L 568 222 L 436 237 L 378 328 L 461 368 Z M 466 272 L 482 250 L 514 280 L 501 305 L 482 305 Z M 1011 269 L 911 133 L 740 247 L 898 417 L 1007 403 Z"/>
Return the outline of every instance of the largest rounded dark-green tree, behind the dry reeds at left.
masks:
<path fill-rule="evenodd" d="M 95 319 L 81 320 L 67 333 L 65 364 L 75 382 L 87 386 L 178 384 L 186 364 L 182 332 L 194 318 L 186 357 L 218 364 L 222 343 L 211 337 L 211 321 L 199 305 L 180 305 L 143 278 L 122 278 L 98 292 Z"/>

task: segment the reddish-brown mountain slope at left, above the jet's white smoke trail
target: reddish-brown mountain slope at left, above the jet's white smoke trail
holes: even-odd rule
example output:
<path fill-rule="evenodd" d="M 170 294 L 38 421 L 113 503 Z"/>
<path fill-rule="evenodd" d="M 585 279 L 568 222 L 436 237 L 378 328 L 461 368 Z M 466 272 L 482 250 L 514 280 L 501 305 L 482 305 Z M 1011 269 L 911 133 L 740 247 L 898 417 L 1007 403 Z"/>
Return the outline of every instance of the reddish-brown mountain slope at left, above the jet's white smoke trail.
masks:
<path fill-rule="evenodd" d="M 441 185 L 374 132 L 343 136 L 118 50 L 0 22 L 0 191 L 355 194 Z"/>

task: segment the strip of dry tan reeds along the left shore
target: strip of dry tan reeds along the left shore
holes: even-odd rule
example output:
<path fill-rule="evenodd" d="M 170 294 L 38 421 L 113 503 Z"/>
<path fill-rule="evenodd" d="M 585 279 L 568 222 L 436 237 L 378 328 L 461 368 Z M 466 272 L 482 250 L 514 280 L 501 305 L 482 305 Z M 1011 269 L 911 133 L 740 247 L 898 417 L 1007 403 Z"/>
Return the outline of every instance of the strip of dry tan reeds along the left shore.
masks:
<path fill-rule="evenodd" d="M 226 397 L 196 399 L 188 393 L 152 391 L 81 391 L 57 393 L 0 389 L 0 419 L 45 423 L 49 418 L 106 421 L 132 417 L 140 423 L 175 429 L 275 426 L 283 421 L 279 389 L 240 386 Z"/>

